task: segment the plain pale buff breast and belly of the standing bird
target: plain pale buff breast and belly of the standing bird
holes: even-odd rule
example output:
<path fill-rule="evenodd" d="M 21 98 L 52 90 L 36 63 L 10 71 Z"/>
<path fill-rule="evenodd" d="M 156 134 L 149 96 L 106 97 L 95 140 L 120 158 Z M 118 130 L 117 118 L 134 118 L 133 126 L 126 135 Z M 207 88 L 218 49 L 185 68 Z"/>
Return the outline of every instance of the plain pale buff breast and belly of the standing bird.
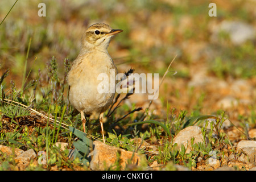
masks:
<path fill-rule="evenodd" d="M 80 57 L 68 75 L 71 104 L 88 114 L 108 109 L 114 98 L 116 74 L 117 68 L 106 53 Z"/>

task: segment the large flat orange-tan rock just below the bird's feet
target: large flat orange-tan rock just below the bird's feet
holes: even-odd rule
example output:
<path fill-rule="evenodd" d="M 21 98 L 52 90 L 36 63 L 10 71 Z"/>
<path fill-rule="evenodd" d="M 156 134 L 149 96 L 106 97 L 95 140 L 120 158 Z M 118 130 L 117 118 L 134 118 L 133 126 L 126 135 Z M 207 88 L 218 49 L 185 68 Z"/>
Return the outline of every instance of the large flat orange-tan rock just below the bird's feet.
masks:
<path fill-rule="evenodd" d="M 93 142 L 93 146 L 94 150 L 89 154 L 91 157 L 89 167 L 92 170 L 104 170 L 109 167 L 115 168 L 117 160 L 121 170 L 125 169 L 129 161 L 136 166 L 141 164 L 143 155 L 112 147 L 97 140 Z"/>

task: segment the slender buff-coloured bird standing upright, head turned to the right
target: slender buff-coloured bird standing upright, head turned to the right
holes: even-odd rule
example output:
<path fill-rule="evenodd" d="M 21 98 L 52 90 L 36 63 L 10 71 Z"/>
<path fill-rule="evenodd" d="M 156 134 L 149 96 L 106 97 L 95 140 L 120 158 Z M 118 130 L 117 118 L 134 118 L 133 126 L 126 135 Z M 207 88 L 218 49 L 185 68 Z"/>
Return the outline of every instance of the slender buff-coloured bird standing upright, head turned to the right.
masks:
<path fill-rule="evenodd" d="M 81 114 L 84 133 L 86 117 L 97 114 L 104 143 L 104 113 L 112 104 L 115 93 L 110 92 L 111 89 L 104 93 L 98 92 L 98 85 L 102 82 L 98 80 L 98 75 L 104 73 L 110 77 L 112 70 L 117 75 L 118 70 L 108 53 L 108 46 L 113 36 L 122 31 L 114 30 L 105 23 L 89 26 L 82 35 L 79 55 L 72 62 L 67 76 L 69 102 Z M 104 85 L 111 86 L 110 79 Z"/>

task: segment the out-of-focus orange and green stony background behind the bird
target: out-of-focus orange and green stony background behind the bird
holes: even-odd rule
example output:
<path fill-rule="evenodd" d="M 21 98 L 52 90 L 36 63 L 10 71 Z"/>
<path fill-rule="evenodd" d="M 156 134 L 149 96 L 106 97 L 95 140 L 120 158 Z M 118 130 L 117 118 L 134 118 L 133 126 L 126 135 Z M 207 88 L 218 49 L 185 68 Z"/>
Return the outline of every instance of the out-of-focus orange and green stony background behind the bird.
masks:
<path fill-rule="evenodd" d="M 38 16 L 42 2 L 46 17 Z M 208 14 L 211 2 L 216 17 Z M 14 3 L 0 1 L 0 21 Z M 37 79 L 39 69 L 47 75 L 52 56 L 64 78 L 64 59 L 75 60 L 83 32 L 103 22 L 123 30 L 109 46 L 119 72 L 134 68 L 161 78 L 177 55 L 151 106 L 153 113 L 164 115 L 172 107 L 192 115 L 224 109 L 238 121 L 255 115 L 255 7 L 254 0 L 18 1 L 0 26 L 0 75 L 10 69 L 2 85 L 8 88 L 13 80 L 17 89 L 21 86 L 30 39 L 28 80 Z M 145 94 L 134 94 L 126 104 L 148 102 Z"/>

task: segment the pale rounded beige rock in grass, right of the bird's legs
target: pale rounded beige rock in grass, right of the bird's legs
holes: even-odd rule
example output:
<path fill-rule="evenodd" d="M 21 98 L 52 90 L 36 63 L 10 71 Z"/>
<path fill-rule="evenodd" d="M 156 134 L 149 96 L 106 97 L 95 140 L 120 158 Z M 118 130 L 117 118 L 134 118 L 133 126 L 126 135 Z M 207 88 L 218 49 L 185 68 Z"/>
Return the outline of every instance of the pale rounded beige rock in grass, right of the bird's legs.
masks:
<path fill-rule="evenodd" d="M 181 144 L 187 147 L 186 153 L 191 151 L 191 138 L 195 138 L 194 144 L 198 142 L 204 142 L 203 134 L 199 126 L 189 126 L 181 130 L 173 140 L 173 143 L 177 143 L 177 147 L 180 149 Z"/>

